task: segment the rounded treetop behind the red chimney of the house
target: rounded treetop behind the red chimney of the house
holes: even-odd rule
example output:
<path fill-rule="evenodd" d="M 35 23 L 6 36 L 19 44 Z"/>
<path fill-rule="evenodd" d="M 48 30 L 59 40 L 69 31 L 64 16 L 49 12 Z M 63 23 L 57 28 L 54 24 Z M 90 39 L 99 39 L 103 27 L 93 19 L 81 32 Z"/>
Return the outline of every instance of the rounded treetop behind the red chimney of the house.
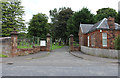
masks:
<path fill-rule="evenodd" d="M 117 12 L 112 8 L 102 8 L 97 11 L 95 16 L 97 22 L 102 20 L 103 18 L 108 18 L 109 16 L 117 19 Z"/>

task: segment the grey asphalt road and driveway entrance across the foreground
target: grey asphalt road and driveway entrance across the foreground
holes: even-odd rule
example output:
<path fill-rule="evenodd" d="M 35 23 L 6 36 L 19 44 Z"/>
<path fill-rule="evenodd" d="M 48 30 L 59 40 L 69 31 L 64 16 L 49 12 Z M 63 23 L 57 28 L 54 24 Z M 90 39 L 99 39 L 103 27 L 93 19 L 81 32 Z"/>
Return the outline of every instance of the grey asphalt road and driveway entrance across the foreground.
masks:
<path fill-rule="evenodd" d="M 107 58 L 104 58 L 107 60 Z M 97 60 L 97 59 L 96 59 Z M 52 52 L 4 58 L 3 76 L 118 76 L 118 64 L 83 59 L 68 52 L 68 47 Z M 110 59 L 109 59 L 110 60 Z M 113 59 L 112 59 L 113 60 Z M 8 65 L 8 62 L 13 62 Z"/>

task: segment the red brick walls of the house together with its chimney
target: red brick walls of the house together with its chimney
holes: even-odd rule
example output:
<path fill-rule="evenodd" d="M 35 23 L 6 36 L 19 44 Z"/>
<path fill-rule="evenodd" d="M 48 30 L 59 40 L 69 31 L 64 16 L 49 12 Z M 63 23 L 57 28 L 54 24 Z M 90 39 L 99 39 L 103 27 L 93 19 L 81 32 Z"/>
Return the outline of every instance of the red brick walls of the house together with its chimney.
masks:
<path fill-rule="evenodd" d="M 79 31 L 79 44 L 81 46 L 88 46 L 88 36 L 89 36 L 89 47 L 92 48 L 103 48 L 103 49 L 114 49 L 114 40 L 120 35 L 120 30 L 115 30 L 115 19 L 109 17 L 107 20 L 107 24 L 109 26 L 109 30 L 96 29 L 95 31 L 89 32 L 87 34 L 83 34 L 80 28 Z M 107 33 L 107 46 L 103 46 L 102 44 L 102 33 Z M 93 45 L 94 44 L 94 45 Z M 80 46 L 80 47 L 81 47 Z"/>

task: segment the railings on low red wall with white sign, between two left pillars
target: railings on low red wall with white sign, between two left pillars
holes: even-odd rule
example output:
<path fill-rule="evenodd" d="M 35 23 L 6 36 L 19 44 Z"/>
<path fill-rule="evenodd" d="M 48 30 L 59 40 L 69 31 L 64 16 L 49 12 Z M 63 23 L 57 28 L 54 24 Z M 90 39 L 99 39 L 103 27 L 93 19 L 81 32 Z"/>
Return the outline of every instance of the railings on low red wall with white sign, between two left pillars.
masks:
<path fill-rule="evenodd" d="M 47 42 L 45 38 L 40 37 L 18 39 L 17 55 L 28 55 L 40 51 L 50 51 L 48 47 L 50 43 L 48 43 L 49 42 Z"/>

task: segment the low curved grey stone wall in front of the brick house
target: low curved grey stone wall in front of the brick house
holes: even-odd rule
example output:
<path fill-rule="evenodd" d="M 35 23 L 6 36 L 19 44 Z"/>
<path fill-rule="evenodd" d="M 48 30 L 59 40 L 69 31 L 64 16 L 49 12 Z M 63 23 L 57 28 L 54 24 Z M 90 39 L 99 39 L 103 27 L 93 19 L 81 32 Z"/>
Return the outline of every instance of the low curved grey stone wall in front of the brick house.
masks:
<path fill-rule="evenodd" d="M 85 54 L 94 55 L 94 56 L 120 58 L 120 56 L 118 56 L 118 53 L 120 53 L 120 50 L 89 48 L 86 46 L 81 46 L 81 51 Z"/>

